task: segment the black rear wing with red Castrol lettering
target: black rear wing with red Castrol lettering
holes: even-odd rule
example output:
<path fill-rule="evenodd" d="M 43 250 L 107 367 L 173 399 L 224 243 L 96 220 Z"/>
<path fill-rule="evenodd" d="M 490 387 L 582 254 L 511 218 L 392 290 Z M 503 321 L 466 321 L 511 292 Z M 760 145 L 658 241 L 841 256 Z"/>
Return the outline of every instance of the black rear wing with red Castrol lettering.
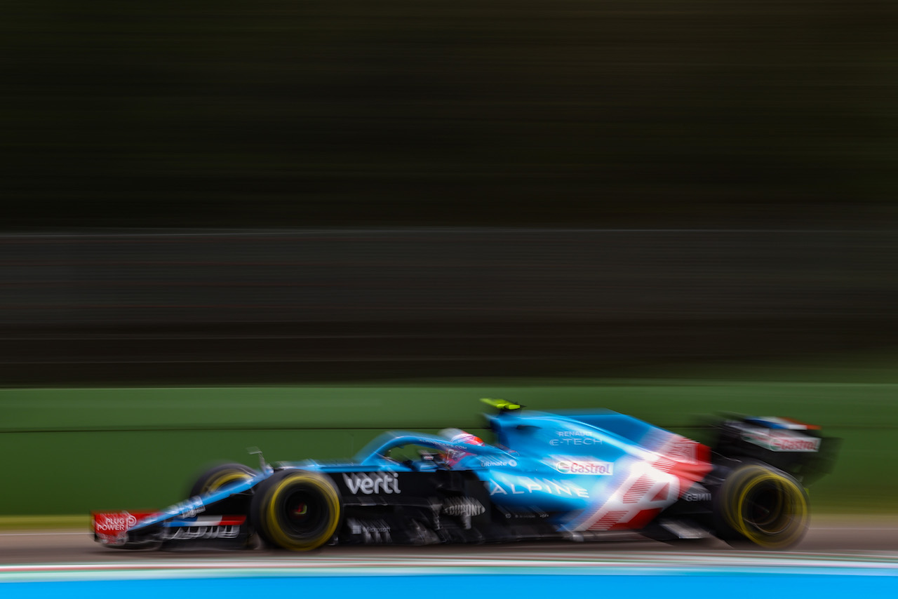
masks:
<path fill-rule="evenodd" d="M 714 425 L 711 449 L 725 458 L 769 463 L 808 485 L 832 471 L 840 439 L 788 418 L 730 415 Z"/>

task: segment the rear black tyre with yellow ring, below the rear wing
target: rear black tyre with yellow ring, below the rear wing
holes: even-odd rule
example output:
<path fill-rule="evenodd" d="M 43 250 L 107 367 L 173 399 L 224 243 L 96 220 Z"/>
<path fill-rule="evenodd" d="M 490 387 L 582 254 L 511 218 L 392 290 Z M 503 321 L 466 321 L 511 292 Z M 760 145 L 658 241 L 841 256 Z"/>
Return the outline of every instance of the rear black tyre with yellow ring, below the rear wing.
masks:
<path fill-rule="evenodd" d="M 719 536 L 730 544 L 752 542 L 786 549 L 805 536 L 810 521 L 807 493 L 786 472 L 762 464 L 732 471 L 718 496 Z"/>

